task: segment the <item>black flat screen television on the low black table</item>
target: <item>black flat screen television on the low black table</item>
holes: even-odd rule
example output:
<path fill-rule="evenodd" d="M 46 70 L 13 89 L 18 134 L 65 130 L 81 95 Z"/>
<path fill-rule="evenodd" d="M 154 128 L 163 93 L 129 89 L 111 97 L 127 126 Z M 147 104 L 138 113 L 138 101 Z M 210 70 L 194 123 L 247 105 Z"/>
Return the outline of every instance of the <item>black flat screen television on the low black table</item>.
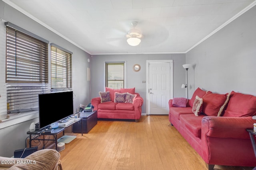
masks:
<path fill-rule="evenodd" d="M 73 92 L 39 94 L 38 105 L 41 130 L 73 114 Z"/>

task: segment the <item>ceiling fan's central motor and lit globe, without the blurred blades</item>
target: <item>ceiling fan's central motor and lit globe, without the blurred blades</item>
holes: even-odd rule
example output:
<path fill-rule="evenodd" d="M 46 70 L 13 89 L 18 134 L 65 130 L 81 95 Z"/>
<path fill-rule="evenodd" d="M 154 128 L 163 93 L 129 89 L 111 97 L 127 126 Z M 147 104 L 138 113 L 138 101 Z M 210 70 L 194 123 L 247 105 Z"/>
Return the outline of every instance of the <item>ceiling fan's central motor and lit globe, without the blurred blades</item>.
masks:
<path fill-rule="evenodd" d="M 137 24 L 138 24 L 137 21 L 132 21 L 132 23 L 131 23 L 132 29 L 130 29 L 128 31 L 128 33 L 126 34 L 126 38 L 127 38 L 126 41 L 131 46 L 137 46 L 141 42 L 142 34 L 141 34 L 140 30 L 135 29 Z"/>

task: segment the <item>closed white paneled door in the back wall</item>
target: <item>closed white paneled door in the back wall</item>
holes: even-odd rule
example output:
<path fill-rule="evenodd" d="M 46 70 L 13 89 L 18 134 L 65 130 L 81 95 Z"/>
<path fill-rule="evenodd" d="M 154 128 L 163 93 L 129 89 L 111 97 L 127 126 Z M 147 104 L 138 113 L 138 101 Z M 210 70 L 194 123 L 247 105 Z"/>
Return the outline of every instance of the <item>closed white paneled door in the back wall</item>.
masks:
<path fill-rule="evenodd" d="M 173 94 L 172 61 L 152 61 L 148 65 L 148 115 L 168 115 Z"/>

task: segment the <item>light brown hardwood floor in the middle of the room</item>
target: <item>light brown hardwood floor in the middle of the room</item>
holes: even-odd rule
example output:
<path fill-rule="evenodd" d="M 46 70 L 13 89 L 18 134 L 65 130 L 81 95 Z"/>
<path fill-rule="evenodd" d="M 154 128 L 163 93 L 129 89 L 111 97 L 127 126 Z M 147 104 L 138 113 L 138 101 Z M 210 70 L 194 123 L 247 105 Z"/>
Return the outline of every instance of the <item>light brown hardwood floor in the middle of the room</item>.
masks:
<path fill-rule="evenodd" d="M 64 170 L 207 170 L 198 153 L 169 125 L 168 115 L 150 115 L 139 122 L 98 121 L 84 136 L 66 133 L 77 138 L 60 152 L 62 166 Z"/>

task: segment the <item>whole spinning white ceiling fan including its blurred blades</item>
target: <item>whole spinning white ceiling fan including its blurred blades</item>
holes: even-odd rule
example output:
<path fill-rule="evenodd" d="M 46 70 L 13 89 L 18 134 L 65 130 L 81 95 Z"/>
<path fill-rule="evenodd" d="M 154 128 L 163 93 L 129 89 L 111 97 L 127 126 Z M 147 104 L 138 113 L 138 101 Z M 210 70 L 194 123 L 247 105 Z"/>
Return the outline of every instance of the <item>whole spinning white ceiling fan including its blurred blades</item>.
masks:
<path fill-rule="evenodd" d="M 166 27 L 147 20 L 121 20 L 113 22 L 110 27 L 102 27 L 106 43 L 118 47 L 120 51 L 127 51 L 127 43 L 132 47 L 139 45 L 140 49 L 160 45 L 168 36 Z"/>

